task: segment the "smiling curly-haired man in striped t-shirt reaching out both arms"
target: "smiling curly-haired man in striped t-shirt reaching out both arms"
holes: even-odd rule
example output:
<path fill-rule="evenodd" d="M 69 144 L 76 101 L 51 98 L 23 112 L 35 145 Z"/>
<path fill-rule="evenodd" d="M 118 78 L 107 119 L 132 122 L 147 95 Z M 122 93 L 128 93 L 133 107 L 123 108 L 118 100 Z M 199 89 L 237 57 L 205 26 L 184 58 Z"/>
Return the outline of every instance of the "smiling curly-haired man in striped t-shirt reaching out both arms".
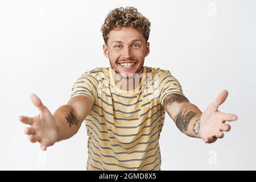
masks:
<path fill-rule="evenodd" d="M 150 52 L 150 22 L 134 7 L 111 11 L 101 27 L 103 51 L 110 68 L 87 71 L 75 82 L 71 100 L 52 115 L 40 99 L 36 117 L 20 116 L 24 130 L 42 150 L 68 139 L 85 120 L 88 170 L 160 170 L 159 137 L 164 115 L 189 137 L 212 143 L 230 130 L 234 114 L 218 111 L 228 96 L 224 90 L 202 113 L 184 96 L 169 71 L 143 67 Z"/>

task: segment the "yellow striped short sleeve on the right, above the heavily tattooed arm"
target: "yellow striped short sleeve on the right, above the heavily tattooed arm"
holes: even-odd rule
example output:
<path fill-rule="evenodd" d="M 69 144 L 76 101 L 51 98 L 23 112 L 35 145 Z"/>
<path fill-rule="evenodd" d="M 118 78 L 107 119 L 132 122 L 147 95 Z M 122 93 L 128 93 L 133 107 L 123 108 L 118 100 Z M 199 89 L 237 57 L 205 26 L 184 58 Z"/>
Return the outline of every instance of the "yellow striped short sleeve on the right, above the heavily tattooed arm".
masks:
<path fill-rule="evenodd" d="M 159 77 L 160 103 L 163 106 L 164 98 L 170 93 L 183 94 L 181 85 L 177 79 L 171 75 L 170 71 L 164 71 Z"/>

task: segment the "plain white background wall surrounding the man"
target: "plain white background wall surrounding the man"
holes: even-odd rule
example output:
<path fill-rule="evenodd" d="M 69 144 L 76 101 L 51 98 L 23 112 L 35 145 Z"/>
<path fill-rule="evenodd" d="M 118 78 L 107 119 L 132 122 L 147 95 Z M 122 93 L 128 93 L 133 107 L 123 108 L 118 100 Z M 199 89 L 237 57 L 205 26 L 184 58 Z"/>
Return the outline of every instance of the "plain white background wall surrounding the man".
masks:
<path fill-rule="evenodd" d="M 251 1 L 1 1 L 0 169 L 84 170 L 85 125 L 46 152 L 23 134 L 19 115 L 35 116 L 36 93 L 53 113 L 73 83 L 109 67 L 100 27 L 116 7 L 134 6 L 151 21 L 145 65 L 168 69 L 202 111 L 224 89 L 220 111 L 238 115 L 213 144 L 180 133 L 166 115 L 162 170 L 256 169 L 256 2 Z"/>

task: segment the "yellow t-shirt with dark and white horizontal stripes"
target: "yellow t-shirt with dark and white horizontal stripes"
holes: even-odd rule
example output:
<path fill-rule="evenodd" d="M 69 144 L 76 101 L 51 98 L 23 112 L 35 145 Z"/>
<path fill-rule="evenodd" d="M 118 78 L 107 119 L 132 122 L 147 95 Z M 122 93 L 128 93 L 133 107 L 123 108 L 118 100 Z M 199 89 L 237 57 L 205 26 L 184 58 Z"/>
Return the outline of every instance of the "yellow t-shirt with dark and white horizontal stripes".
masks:
<path fill-rule="evenodd" d="M 169 71 L 143 67 L 142 75 L 129 91 L 115 85 L 111 68 L 87 71 L 73 85 L 71 97 L 84 95 L 93 102 L 85 118 L 87 170 L 160 170 L 163 99 L 183 91 Z"/>

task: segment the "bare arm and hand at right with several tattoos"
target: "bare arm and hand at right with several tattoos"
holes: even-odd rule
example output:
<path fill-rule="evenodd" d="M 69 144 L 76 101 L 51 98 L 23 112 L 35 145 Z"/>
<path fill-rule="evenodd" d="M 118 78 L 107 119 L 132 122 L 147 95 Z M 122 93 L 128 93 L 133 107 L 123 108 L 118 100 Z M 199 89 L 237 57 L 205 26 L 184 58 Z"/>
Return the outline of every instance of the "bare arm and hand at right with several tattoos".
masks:
<path fill-rule="evenodd" d="M 227 121 L 237 120 L 237 115 L 218 111 L 227 97 L 228 91 L 222 91 L 203 113 L 181 94 L 169 94 L 164 98 L 163 105 L 181 132 L 189 137 L 201 138 L 205 143 L 212 143 L 224 137 L 224 131 L 230 130 Z"/>

